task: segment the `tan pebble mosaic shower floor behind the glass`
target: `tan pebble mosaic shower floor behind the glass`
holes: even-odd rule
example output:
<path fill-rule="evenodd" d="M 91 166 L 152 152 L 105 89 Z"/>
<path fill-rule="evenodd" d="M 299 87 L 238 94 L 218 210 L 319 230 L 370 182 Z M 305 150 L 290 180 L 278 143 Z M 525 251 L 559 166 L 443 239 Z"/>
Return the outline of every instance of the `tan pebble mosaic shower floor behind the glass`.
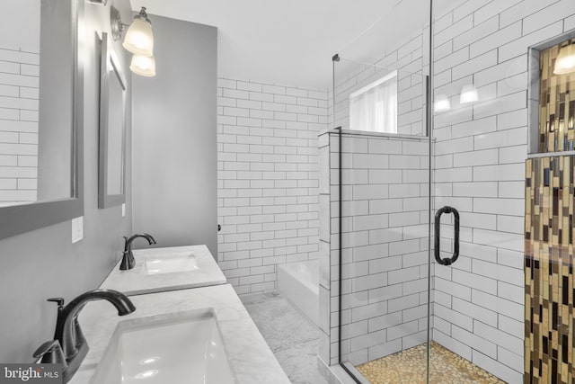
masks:
<path fill-rule="evenodd" d="M 426 383 L 427 344 L 420 344 L 400 353 L 367 362 L 358 371 L 371 384 Z M 429 354 L 429 383 L 505 383 L 473 362 L 431 342 Z"/>

